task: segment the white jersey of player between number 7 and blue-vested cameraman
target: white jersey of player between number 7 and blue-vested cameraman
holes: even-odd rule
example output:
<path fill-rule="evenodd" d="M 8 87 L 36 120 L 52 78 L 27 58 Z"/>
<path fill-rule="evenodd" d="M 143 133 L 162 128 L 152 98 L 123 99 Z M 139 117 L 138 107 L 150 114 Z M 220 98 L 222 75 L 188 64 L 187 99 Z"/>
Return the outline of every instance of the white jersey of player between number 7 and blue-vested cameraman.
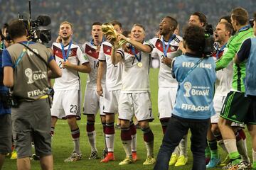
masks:
<path fill-rule="evenodd" d="M 164 48 L 163 48 L 163 38 L 152 38 L 146 44 L 151 44 L 154 46 L 154 55 L 158 55 L 160 69 L 159 69 L 159 87 L 177 87 L 178 82 L 171 76 L 171 67 L 161 62 L 161 59 L 164 57 Z M 178 50 L 179 42 L 182 38 L 178 35 L 175 36 L 174 40 L 171 41 L 169 48 L 167 49 L 167 57 L 173 59 L 181 55 L 181 50 Z M 165 48 L 168 45 L 168 42 L 165 42 Z"/>

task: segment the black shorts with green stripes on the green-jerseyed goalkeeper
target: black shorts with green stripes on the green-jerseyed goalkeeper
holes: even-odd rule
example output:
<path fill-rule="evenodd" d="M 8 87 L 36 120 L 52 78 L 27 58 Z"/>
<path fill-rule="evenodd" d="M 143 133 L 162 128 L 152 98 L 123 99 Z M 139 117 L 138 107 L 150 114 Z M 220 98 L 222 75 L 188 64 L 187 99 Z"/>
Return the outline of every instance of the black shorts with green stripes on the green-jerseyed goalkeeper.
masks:
<path fill-rule="evenodd" d="M 245 97 L 245 93 L 230 91 L 225 98 L 220 117 L 235 123 L 256 124 L 256 115 L 252 108 L 255 108 L 255 104 L 251 98 Z"/>

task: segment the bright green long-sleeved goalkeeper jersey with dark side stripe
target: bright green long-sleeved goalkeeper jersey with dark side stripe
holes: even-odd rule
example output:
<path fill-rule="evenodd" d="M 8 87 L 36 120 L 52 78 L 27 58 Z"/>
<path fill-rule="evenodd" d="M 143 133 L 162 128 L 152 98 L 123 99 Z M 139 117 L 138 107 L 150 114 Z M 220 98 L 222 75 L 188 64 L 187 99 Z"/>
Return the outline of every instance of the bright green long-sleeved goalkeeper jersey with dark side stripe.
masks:
<path fill-rule="evenodd" d="M 253 29 L 249 26 L 241 28 L 238 33 L 235 33 L 230 40 L 228 40 L 227 50 L 224 51 L 223 56 L 216 61 L 216 71 L 223 69 L 234 59 L 235 54 L 240 49 L 242 42 L 247 38 L 253 37 Z M 233 81 L 232 89 L 234 91 L 245 92 L 245 62 L 240 64 L 233 64 Z"/>

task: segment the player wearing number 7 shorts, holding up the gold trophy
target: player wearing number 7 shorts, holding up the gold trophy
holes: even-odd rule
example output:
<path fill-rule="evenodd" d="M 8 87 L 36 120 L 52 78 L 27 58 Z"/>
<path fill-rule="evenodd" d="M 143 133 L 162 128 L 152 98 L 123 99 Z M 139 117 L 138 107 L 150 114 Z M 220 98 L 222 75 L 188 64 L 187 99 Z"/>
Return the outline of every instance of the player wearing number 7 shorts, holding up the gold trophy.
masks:
<path fill-rule="evenodd" d="M 147 157 L 143 164 L 148 165 L 155 162 L 154 135 L 149 128 L 149 121 L 154 119 L 151 113 L 149 94 L 149 68 L 151 62 L 149 53 L 153 47 L 145 45 L 148 52 L 134 47 L 134 45 L 144 47 L 142 42 L 145 38 L 145 30 L 140 24 L 134 24 L 131 30 L 131 37 L 126 38 L 124 35 L 119 34 L 117 41 L 125 40 L 131 45 L 125 50 L 117 50 L 118 45 L 117 41 L 115 41 L 111 53 L 112 64 L 122 62 L 124 65 L 118 112 L 121 120 L 121 140 L 126 158 L 119 165 L 132 163 L 132 136 L 129 120 L 132 120 L 134 115 L 139 121 L 146 144 Z"/>

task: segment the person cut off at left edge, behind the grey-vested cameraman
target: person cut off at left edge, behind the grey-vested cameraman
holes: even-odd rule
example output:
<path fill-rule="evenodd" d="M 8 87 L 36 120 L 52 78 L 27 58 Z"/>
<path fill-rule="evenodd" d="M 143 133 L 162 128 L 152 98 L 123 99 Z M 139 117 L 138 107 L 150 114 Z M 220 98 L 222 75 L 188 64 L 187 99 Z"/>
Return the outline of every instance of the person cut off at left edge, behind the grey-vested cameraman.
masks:
<path fill-rule="evenodd" d="M 2 52 L 9 43 L 4 40 L 6 28 L 0 34 L 0 66 L 2 65 Z M 11 153 L 11 108 L 6 106 L 6 94 L 9 89 L 3 84 L 4 70 L 0 69 L 0 169 L 4 164 L 6 154 Z"/>

